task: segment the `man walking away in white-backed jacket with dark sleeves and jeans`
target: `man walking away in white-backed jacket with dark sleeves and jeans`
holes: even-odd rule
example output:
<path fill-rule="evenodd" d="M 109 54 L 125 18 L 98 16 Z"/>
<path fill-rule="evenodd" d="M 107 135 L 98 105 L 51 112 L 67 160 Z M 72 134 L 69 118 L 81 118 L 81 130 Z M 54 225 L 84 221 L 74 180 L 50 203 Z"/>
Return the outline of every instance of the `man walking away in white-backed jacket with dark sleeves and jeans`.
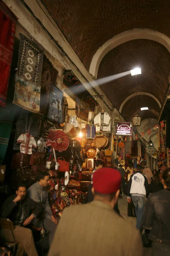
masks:
<path fill-rule="evenodd" d="M 142 218 L 144 211 L 144 203 L 146 197 L 149 195 L 147 177 L 142 174 L 142 166 L 136 166 L 136 172 L 130 176 L 127 187 L 127 201 L 133 201 L 136 212 L 136 228 L 140 229 L 142 226 Z"/>

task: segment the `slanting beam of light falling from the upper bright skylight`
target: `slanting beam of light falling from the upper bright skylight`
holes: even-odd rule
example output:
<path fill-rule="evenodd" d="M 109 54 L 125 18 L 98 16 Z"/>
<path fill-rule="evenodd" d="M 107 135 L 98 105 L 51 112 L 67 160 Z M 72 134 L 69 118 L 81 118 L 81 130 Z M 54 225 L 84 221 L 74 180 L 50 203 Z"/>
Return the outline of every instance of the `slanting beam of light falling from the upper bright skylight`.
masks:
<path fill-rule="evenodd" d="M 116 75 L 107 76 L 107 77 L 99 78 L 99 79 L 96 79 L 93 81 L 89 81 L 87 83 L 83 83 L 82 85 L 84 85 L 84 86 L 92 85 L 93 87 L 97 87 L 98 85 L 107 84 L 113 80 L 119 79 L 119 78 L 127 76 L 127 75 L 130 75 L 130 70 L 123 72 L 123 73 L 116 74 Z M 71 87 L 71 90 L 73 93 L 74 92 L 75 92 L 75 94 L 82 93 L 85 90 L 83 87 L 79 87 L 79 85 L 80 84 L 77 84 L 77 85 Z"/>

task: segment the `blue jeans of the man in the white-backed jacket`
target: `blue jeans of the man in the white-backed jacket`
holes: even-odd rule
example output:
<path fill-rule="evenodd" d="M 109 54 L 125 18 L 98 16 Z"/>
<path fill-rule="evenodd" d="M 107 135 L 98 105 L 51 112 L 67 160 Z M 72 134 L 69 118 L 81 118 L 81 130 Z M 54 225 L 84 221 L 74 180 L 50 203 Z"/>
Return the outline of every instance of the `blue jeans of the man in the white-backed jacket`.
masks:
<path fill-rule="evenodd" d="M 143 196 L 131 195 L 136 212 L 136 228 L 140 229 L 142 225 L 145 198 Z"/>

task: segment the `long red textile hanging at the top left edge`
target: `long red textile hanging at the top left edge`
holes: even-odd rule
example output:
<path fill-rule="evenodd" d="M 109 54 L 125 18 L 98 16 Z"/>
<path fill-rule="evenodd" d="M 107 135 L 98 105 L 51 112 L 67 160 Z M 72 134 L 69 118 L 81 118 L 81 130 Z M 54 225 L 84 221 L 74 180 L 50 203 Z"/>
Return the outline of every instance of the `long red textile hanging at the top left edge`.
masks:
<path fill-rule="evenodd" d="M 0 1 L 0 105 L 6 106 L 17 17 Z"/>

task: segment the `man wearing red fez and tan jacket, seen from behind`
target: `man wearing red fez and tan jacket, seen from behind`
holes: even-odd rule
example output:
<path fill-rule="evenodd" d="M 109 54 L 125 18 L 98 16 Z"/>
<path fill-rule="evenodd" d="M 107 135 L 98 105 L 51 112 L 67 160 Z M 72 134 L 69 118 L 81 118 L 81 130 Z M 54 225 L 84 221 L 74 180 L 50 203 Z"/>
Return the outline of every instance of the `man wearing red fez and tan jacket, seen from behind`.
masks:
<path fill-rule="evenodd" d="M 113 211 L 120 186 L 116 169 L 94 172 L 94 201 L 64 209 L 48 256 L 142 256 L 139 231 Z"/>

